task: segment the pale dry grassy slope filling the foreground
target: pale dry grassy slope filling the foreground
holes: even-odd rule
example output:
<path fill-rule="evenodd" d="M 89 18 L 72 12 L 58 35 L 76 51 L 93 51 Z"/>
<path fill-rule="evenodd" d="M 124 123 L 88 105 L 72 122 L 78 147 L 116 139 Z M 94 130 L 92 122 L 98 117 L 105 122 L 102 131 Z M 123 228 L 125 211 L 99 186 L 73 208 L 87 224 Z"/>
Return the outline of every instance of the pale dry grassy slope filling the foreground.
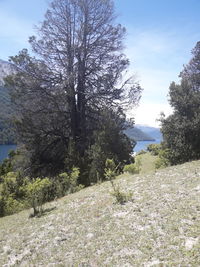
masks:
<path fill-rule="evenodd" d="M 200 161 L 117 179 L 0 219 L 0 266 L 200 266 Z"/>

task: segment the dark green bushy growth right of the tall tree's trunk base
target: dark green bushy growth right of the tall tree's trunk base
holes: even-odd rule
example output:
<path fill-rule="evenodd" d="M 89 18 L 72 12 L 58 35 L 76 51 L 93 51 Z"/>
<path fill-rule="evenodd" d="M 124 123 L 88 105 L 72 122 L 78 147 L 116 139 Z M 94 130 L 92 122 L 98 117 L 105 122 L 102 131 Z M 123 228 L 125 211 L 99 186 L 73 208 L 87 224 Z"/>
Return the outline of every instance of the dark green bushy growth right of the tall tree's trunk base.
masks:
<path fill-rule="evenodd" d="M 131 163 L 133 144 L 124 134 L 125 117 L 114 111 L 104 110 L 99 121 L 99 130 L 95 132 L 94 145 L 89 151 L 91 165 L 89 179 L 97 182 L 104 179 L 104 169 L 107 158 L 112 158 L 118 165 L 118 172 L 123 166 Z"/>

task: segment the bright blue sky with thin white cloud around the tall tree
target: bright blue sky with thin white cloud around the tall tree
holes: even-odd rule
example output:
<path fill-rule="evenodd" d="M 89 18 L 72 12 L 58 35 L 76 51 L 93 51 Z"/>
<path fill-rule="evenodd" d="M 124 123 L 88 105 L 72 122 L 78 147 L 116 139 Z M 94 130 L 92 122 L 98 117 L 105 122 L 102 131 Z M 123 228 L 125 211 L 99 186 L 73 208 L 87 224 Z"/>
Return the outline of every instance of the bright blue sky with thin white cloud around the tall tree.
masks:
<path fill-rule="evenodd" d="M 36 34 L 50 0 L 0 0 L 0 59 L 8 60 Z M 143 88 L 129 116 L 136 124 L 159 126 L 160 112 L 169 115 L 168 90 L 179 81 L 183 65 L 200 41 L 199 0 L 114 0 L 117 22 L 126 27 L 125 54 L 129 73 Z"/>

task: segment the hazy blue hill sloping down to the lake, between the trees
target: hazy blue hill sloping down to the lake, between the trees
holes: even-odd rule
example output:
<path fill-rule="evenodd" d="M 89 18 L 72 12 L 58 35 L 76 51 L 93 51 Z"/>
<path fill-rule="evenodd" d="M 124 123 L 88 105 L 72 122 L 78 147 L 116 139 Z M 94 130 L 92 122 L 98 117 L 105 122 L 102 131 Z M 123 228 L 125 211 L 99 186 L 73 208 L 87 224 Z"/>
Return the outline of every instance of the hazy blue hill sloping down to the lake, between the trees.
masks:
<path fill-rule="evenodd" d="M 135 141 L 155 141 L 155 139 L 137 127 L 131 127 L 124 131 L 125 134 Z"/>

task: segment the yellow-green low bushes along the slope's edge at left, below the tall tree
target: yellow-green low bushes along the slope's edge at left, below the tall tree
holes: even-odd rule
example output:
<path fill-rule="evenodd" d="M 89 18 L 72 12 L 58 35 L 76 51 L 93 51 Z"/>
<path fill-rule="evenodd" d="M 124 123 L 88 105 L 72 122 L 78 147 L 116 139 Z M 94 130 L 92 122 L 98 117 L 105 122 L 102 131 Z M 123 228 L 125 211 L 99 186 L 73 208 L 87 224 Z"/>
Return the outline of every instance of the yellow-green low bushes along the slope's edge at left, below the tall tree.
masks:
<path fill-rule="evenodd" d="M 74 193 L 83 188 L 78 184 L 79 170 L 73 168 L 70 173 L 62 173 L 54 179 L 24 178 L 19 172 L 8 172 L 1 176 L 0 217 L 17 213 L 32 207 L 31 216 L 43 213 L 43 204 Z"/>

